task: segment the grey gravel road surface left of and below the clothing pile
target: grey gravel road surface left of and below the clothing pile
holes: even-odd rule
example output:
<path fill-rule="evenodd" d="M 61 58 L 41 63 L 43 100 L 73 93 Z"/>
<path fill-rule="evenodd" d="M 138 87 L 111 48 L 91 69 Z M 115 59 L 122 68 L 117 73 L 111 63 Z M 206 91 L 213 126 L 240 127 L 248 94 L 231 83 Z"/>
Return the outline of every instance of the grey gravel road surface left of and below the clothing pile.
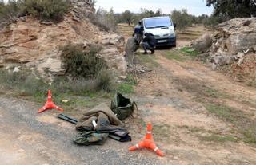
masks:
<path fill-rule="evenodd" d="M 128 153 L 130 143 L 109 139 L 104 146 L 72 143 L 74 125 L 57 114 L 37 114 L 38 105 L 0 96 L 0 162 L 24 164 L 156 164 L 155 159 Z M 113 147 L 114 146 L 114 147 Z"/>

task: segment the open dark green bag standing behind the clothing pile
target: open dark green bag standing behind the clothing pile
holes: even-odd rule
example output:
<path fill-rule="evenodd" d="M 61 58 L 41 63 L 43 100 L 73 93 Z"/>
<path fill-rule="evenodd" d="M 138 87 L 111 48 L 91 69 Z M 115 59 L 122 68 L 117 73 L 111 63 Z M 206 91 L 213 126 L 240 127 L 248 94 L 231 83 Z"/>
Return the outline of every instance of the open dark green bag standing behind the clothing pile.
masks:
<path fill-rule="evenodd" d="M 114 96 L 114 101 L 111 101 L 111 110 L 119 120 L 125 120 L 133 116 L 134 110 L 138 111 L 138 107 L 134 101 L 131 102 L 130 99 L 122 96 L 121 93 L 117 93 Z"/>

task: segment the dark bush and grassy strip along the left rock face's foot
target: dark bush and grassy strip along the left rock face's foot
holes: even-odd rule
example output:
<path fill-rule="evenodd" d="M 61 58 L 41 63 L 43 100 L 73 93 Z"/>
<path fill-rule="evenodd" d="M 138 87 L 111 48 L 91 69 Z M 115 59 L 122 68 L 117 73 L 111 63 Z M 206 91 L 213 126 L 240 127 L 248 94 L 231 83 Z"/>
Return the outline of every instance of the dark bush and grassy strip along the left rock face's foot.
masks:
<path fill-rule="evenodd" d="M 20 69 L 19 72 L 14 72 L 13 68 L 0 69 L 0 92 L 43 104 L 48 89 L 51 89 L 54 101 L 66 108 L 67 113 L 91 108 L 98 102 L 109 103 L 115 92 L 133 93 L 137 78 L 130 74 L 117 83 L 106 61 L 97 56 L 99 50 L 98 46 L 86 51 L 77 45 L 64 46 L 62 62 L 66 73 L 55 77 L 52 82 L 45 81 L 29 69 Z"/>

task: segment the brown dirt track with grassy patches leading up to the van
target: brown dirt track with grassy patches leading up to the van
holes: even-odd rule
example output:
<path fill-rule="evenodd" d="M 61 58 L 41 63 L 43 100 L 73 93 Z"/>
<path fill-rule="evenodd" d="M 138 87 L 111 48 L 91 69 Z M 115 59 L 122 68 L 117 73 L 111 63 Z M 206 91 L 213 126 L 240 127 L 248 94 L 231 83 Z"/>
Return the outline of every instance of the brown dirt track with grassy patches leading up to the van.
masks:
<path fill-rule="evenodd" d="M 255 88 L 199 61 L 168 60 L 169 51 L 157 51 L 137 87 L 144 122 L 166 149 L 162 163 L 256 164 Z"/>

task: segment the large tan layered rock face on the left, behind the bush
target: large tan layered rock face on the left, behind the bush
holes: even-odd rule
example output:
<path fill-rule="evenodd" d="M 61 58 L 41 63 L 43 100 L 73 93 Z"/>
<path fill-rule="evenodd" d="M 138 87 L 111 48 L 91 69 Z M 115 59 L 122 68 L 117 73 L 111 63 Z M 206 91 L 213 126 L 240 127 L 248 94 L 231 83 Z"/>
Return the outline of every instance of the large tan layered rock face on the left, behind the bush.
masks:
<path fill-rule="evenodd" d="M 30 17 L 19 18 L 16 23 L 0 29 L 0 66 L 22 65 L 35 69 L 43 76 L 63 73 L 60 48 L 69 43 L 101 45 L 102 56 L 110 68 L 126 72 L 124 38 L 115 33 L 101 31 L 98 26 L 80 15 L 94 12 L 90 0 L 73 0 L 74 9 L 63 22 L 39 22 Z M 47 75 L 46 75 L 47 73 Z"/>

